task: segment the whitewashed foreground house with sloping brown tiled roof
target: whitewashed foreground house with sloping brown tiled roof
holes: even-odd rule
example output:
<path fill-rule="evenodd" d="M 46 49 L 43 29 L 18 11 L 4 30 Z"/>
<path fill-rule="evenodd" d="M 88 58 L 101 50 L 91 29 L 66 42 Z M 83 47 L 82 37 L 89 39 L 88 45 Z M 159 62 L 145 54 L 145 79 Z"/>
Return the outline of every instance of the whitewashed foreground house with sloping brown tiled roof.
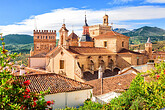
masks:
<path fill-rule="evenodd" d="M 54 100 L 53 110 L 58 108 L 78 107 L 90 98 L 93 87 L 55 73 L 28 74 L 24 81 L 30 80 L 32 92 L 50 90 L 45 100 Z"/>

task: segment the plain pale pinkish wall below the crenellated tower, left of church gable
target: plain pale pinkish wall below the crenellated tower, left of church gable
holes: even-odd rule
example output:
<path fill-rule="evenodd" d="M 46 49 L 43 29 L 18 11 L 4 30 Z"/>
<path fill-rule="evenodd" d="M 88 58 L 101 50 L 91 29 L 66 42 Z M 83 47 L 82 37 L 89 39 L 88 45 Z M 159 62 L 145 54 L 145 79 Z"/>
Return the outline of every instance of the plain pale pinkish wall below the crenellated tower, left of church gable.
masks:
<path fill-rule="evenodd" d="M 45 58 L 30 58 L 30 68 L 45 67 Z"/>

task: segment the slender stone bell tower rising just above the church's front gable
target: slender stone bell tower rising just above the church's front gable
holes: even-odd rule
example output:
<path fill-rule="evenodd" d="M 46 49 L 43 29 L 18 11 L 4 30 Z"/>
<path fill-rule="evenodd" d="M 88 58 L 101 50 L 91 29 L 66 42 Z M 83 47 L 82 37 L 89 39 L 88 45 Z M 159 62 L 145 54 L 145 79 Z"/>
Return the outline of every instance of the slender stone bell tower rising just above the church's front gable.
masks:
<path fill-rule="evenodd" d="M 69 46 L 69 41 L 68 41 L 68 30 L 65 27 L 65 24 L 62 25 L 61 29 L 59 30 L 60 33 L 60 39 L 59 39 L 59 45 L 63 47 L 68 47 Z"/>

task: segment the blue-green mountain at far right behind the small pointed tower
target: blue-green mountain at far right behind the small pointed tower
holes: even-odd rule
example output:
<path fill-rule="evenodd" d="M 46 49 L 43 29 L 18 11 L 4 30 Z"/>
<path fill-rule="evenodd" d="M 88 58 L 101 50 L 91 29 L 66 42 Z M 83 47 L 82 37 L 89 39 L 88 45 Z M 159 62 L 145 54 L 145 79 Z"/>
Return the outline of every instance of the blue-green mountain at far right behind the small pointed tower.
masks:
<path fill-rule="evenodd" d="M 123 34 L 130 37 L 130 44 L 145 43 L 148 37 L 152 42 L 165 40 L 165 30 L 157 27 L 144 26 Z"/>

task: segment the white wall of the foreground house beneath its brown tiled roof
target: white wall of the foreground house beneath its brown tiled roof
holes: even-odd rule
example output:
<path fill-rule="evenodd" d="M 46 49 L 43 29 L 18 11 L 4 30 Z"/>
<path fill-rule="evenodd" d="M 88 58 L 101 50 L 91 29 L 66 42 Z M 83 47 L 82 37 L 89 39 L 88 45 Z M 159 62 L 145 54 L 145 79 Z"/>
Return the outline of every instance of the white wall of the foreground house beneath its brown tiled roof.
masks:
<path fill-rule="evenodd" d="M 90 98 L 92 89 L 73 91 L 73 92 L 63 92 L 57 94 L 49 94 L 45 96 L 45 100 L 54 100 L 53 110 L 58 108 L 67 107 L 77 107 L 83 105 L 87 98 Z"/>

